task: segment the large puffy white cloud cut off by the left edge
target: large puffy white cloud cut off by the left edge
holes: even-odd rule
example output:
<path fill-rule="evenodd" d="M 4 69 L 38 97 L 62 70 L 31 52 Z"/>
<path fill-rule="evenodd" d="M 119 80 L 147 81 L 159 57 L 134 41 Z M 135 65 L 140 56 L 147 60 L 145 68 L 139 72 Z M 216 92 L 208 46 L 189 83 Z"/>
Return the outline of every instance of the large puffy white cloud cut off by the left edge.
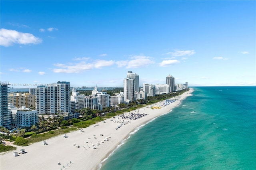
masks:
<path fill-rule="evenodd" d="M 40 38 L 35 37 L 33 34 L 17 32 L 15 30 L 6 30 L 1 28 L 0 30 L 0 45 L 10 46 L 13 43 L 18 44 L 37 44 L 41 43 L 42 40 Z"/>

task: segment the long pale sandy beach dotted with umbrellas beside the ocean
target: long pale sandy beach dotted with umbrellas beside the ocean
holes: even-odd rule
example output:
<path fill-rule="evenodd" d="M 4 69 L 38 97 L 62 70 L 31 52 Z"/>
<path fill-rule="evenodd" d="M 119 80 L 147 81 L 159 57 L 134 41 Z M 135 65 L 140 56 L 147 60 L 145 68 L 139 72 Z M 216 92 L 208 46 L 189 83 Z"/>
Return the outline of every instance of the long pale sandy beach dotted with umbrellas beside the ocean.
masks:
<path fill-rule="evenodd" d="M 1 170 L 97 170 L 102 160 L 128 137 L 136 127 L 147 123 L 155 117 L 168 113 L 178 106 L 193 89 L 183 93 L 173 103 L 164 106 L 164 101 L 137 109 L 136 111 L 106 119 L 98 126 L 91 125 L 66 134 L 68 137 L 56 136 L 46 140 L 47 145 L 37 142 L 29 146 L 16 146 L 17 150 L 0 156 Z M 151 109 L 150 107 L 154 107 Z M 141 115 L 139 119 L 129 119 Z M 144 116 L 143 116 L 144 115 Z M 127 118 L 126 118 L 127 117 Z M 117 128 L 120 126 L 119 128 Z M 84 131 L 84 132 L 83 132 Z M 78 147 L 79 146 L 79 147 Z M 13 156 L 14 152 L 25 149 L 25 154 Z M 60 162 L 60 164 L 58 164 Z"/>

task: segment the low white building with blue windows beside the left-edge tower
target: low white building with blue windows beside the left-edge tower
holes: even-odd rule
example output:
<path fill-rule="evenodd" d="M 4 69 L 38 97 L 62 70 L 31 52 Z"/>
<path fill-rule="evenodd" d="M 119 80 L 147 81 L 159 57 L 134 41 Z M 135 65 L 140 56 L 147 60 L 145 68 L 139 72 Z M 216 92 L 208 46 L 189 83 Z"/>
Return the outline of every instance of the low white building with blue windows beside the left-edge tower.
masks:
<path fill-rule="evenodd" d="M 12 115 L 12 127 L 30 127 L 38 123 L 37 110 L 31 110 L 25 106 L 17 108 L 10 103 L 10 105 L 8 105 L 8 111 Z"/>

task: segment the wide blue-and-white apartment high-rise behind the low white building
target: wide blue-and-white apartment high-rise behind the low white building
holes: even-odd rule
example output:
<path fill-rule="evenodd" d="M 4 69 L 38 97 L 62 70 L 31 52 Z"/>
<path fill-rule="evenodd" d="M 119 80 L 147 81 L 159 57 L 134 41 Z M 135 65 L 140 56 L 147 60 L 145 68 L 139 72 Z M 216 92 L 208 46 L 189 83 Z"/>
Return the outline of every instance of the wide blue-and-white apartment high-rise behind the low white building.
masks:
<path fill-rule="evenodd" d="M 70 83 L 58 81 L 36 88 L 36 110 L 39 114 L 70 112 Z"/>

